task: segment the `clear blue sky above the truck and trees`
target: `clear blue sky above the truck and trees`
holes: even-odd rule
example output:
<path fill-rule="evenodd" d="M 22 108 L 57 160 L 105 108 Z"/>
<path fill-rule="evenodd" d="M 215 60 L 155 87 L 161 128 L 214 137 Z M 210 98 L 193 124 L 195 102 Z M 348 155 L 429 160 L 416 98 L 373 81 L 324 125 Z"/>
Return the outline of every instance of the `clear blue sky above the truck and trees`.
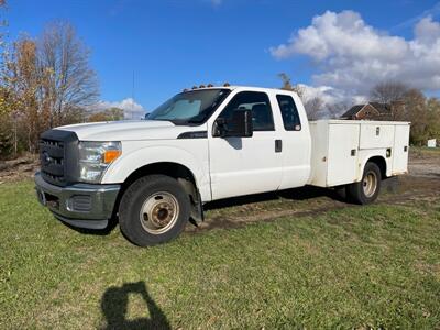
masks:
<path fill-rule="evenodd" d="M 322 58 L 316 54 L 314 45 L 304 46 L 307 42 L 304 40 L 299 43 L 298 31 L 314 25 L 314 16 L 322 16 L 328 11 L 334 15 L 326 18 L 330 21 L 336 18 L 342 22 L 341 29 L 345 29 L 346 18 L 339 14 L 350 10 L 361 18 L 367 28 L 364 31 L 374 29 L 370 40 L 375 35 L 388 35 L 397 37 L 396 42 L 400 41 L 400 44 L 408 42 L 408 45 L 415 40 L 414 29 L 421 19 L 429 18 L 420 36 L 420 40 L 428 40 L 427 34 L 437 33 L 440 16 L 440 2 L 430 0 L 10 0 L 8 7 L 6 16 L 11 38 L 23 32 L 35 36 L 51 20 L 70 21 L 91 50 L 91 66 L 99 77 L 101 100 L 119 102 L 131 97 L 134 72 L 134 99 L 145 109 L 156 107 L 195 84 L 230 81 L 278 87 L 277 74 L 280 72 L 307 86 L 318 88 L 323 84 L 331 88 L 336 86 L 338 90 L 346 89 L 346 84 L 324 78 L 329 73 L 342 73 L 332 66 L 334 58 L 342 58 L 344 65 L 346 61 L 362 63 L 370 59 L 353 59 L 350 56 L 355 55 L 348 55 L 348 51 L 341 55 L 338 50 Z M 353 14 L 349 16 L 353 18 Z M 352 22 L 350 18 L 348 20 Z M 318 33 L 319 29 L 324 29 L 317 26 Z M 430 42 L 438 41 L 440 36 Z M 290 51 L 277 52 L 282 44 Z M 301 45 L 309 51 L 299 50 Z M 417 68 L 415 61 L 413 58 Z M 424 58 L 420 61 L 426 63 Z M 431 78 L 435 82 L 420 86 L 437 94 L 436 81 L 440 81 L 440 74 L 436 73 Z M 362 95 L 363 91 L 358 88 L 350 92 Z"/>

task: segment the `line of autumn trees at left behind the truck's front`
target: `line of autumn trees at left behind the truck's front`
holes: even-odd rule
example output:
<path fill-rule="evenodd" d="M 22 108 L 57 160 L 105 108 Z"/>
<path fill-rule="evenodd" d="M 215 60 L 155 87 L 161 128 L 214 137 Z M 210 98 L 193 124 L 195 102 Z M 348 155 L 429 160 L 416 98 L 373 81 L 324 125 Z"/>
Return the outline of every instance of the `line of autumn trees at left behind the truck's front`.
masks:
<path fill-rule="evenodd" d="M 3 31 L 0 43 L 0 157 L 37 152 L 40 134 L 51 128 L 123 119 L 118 108 L 92 111 L 98 78 L 70 23 L 51 22 L 37 37 L 11 43 Z"/>

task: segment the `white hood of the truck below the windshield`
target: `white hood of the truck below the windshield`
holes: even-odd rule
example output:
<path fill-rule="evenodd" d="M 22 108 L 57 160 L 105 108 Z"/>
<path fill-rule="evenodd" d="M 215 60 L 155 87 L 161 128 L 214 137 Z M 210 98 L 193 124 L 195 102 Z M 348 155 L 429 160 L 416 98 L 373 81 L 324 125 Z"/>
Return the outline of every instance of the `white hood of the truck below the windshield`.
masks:
<path fill-rule="evenodd" d="M 81 123 L 56 128 L 75 132 L 82 141 L 169 140 L 194 127 L 175 125 L 170 121 L 135 120 Z"/>

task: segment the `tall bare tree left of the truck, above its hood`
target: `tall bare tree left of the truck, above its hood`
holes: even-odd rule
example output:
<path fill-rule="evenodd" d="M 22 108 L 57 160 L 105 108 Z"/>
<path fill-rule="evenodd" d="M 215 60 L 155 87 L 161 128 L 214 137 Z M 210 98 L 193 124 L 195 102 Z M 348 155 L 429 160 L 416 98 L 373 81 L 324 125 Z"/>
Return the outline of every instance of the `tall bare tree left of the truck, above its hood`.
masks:
<path fill-rule="evenodd" d="M 47 77 L 41 97 L 51 109 L 51 125 L 57 125 L 70 117 L 68 111 L 97 101 L 98 80 L 89 67 L 89 51 L 69 23 L 48 24 L 38 46 L 40 69 Z"/>

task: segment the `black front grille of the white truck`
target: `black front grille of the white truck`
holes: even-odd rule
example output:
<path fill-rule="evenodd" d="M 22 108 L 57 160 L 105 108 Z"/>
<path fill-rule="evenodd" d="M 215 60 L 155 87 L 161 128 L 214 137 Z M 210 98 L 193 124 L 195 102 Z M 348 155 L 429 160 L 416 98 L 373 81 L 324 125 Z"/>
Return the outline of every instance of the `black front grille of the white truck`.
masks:
<path fill-rule="evenodd" d="M 40 161 L 44 180 L 66 186 L 77 178 L 78 138 L 74 132 L 50 130 L 41 135 Z"/>

